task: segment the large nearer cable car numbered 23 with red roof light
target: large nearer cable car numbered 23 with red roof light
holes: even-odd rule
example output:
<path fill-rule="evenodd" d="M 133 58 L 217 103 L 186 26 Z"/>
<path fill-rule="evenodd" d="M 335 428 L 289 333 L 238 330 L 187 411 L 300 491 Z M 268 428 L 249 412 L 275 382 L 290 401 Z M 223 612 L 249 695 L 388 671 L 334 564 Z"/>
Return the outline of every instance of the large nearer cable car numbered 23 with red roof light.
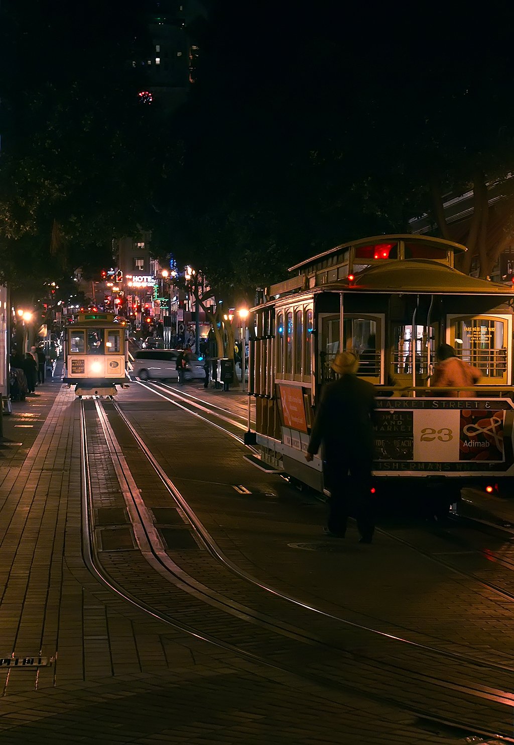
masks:
<path fill-rule="evenodd" d="M 304 456 L 332 361 L 347 350 L 376 387 L 377 492 L 512 486 L 514 290 L 458 271 L 464 251 L 424 235 L 362 238 L 296 264 L 263 291 L 249 381 L 263 463 L 323 491 L 321 455 Z M 441 343 L 479 368 L 475 387 L 431 387 Z"/>

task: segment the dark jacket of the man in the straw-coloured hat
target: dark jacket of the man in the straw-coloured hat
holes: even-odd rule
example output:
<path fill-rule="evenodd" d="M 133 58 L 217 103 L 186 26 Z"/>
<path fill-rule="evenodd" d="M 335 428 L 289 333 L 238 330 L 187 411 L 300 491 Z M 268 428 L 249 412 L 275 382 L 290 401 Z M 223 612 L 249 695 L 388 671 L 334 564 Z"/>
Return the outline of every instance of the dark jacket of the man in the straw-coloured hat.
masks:
<path fill-rule="evenodd" d="M 371 460 L 374 412 L 373 386 L 351 373 L 342 375 L 324 389 L 307 451 L 315 455 L 323 442 L 324 459 L 332 466 L 344 457 Z"/>

